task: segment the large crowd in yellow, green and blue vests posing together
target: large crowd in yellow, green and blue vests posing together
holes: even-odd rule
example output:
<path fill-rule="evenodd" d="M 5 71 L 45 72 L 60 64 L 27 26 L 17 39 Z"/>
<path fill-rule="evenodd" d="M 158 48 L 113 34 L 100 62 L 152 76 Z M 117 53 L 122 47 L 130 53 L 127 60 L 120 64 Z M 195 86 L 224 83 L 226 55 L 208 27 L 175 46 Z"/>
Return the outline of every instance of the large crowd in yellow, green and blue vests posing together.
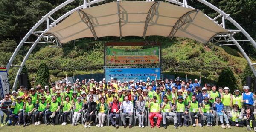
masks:
<path fill-rule="evenodd" d="M 148 77 L 146 81 L 137 82 L 116 78 L 99 83 L 94 79 L 88 82 L 77 79 L 73 84 L 60 81 L 31 89 L 20 86 L 0 101 L 0 115 L 2 127 L 21 124 L 25 127 L 32 122 L 35 126 L 44 122 L 55 125 L 60 123 L 59 118 L 62 118 L 61 125 L 69 122 L 72 126 L 81 123 L 85 128 L 94 124 L 103 127 L 108 117 L 116 128 L 120 125 L 132 128 L 137 125 L 134 123 L 137 118 L 139 128 L 146 124 L 160 128 L 162 122 L 166 129 L 166 119 L 171 117 L 175 128 L 190 124 L 212 127 L 217 119 L 222 128 L 246 126 L 256 131 L 255 99 L 248 86 L 243 86 L 243 92 L 236 89 L 231 93 L 228 87 L 217 89 L 210 84 L 201 87 L 201 77 L 199 82 L 195 79 L 192 83 L 187 75 L 186 80 Z"/>

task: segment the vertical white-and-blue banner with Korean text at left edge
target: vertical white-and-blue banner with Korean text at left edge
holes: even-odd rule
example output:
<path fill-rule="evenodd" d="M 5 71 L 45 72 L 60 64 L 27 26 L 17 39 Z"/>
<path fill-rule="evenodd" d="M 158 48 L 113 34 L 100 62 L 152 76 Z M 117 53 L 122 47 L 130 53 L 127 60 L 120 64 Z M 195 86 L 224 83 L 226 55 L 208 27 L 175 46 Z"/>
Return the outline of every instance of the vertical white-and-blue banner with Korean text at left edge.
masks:
<path fill-rule="evenodd" d="M 9 93 L 9 80 L 6 68 L 0 68 L 0 98 Z"/>

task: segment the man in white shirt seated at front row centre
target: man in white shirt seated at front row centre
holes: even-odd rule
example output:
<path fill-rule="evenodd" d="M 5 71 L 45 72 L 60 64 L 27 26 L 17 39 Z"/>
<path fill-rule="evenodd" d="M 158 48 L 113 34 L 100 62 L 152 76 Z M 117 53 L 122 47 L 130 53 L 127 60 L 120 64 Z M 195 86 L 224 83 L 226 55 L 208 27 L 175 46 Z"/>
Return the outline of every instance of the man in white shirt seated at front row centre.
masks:
<path fill-rule="evenodd" d="M 128 116 L 129 119 L 129 128 L 132 127 L 132 121 L 133 121 L 133 103 L 129 101 L 128 95 L 125 95 L 125 101 L 122 102 L 121 104 L 121 109 L 123 110 L 122 112 L 122 122 L 124 124 L 124 128 L 126 128 L 126 117 Z"/>

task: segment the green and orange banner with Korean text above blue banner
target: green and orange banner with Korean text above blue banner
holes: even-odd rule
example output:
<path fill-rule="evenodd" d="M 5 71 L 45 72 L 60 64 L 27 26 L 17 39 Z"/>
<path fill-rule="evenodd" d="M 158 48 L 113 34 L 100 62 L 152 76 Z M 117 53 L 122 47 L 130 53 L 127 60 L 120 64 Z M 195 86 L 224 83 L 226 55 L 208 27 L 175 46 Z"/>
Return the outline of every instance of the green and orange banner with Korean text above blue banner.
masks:
<path fill-rule="evenodd" d="M 106 47 L 107 64 L 158 64 L 159 47 L 148 49 L 114 49 Z"/>

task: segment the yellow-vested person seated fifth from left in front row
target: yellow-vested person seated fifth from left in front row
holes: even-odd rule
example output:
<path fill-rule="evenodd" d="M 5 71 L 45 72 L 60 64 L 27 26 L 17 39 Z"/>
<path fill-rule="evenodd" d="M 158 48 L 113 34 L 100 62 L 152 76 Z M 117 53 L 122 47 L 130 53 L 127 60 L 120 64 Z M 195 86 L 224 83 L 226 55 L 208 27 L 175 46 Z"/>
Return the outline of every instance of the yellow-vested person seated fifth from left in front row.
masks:
<path fill-rule="evenodd" d="M 58 111 L 61 109 L 61 103 L 57 101 L 56 95 L 52 96 L 52 102 L 47 105 L 48 112 L 45 114 L 47 125 L 49 125 L 50 118 L 52 118 L 52 125 L 55 125 L 55 119 L 58 118 Z"/>

